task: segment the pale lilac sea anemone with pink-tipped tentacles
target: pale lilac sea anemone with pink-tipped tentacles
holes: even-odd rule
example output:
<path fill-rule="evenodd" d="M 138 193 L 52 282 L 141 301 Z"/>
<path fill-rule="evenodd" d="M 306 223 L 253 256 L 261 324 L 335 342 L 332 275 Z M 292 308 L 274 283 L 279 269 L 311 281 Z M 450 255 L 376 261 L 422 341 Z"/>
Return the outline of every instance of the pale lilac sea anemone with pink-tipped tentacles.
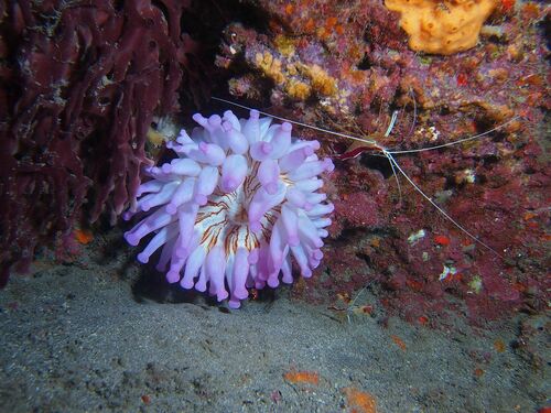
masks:
<path fill-rule="evenodd" d="M 125 233 L 130 244 L 155 233 L 138 260 L 148 262 L 163 247 L 156 269 L 168 269 L 170 283 L 208 287 L 233 308 L 249 287 L 277 287 L 280 276 L 292 283 L 291 256 L 310 278 L 333 211 L 318 192 L 318 175 L 334 169 L 314 154 L 320 142 L 294 139 L 291 123 L 271 124 L 256 110 L 249 119 L 229 110 L 193 119 L 201 128 L 168 143 L 179 157 L 144 170 L 151 180 L 126 214 L 143 217 Z"/>

